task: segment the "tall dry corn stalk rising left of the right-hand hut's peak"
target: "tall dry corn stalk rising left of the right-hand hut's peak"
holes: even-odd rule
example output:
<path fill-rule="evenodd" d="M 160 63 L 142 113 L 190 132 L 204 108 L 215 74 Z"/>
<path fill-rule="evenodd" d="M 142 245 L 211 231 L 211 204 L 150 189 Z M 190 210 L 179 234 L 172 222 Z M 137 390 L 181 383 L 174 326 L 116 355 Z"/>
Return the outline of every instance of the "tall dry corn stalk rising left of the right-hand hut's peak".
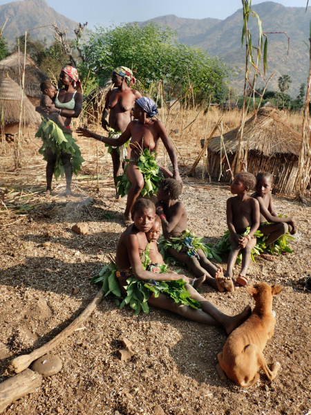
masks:
<path fill-rule="evenodd" d="M 245 121 L 247 117 L 247 111 L 249 108 L 249 102 L 247 102 L 247 97 L 252 96 L 255 92 L 256 86 L 256 79 L 258 75 L 261 75 L 258 64 L 263 59 L 263 73 L 267 70 L 267 36 L 263 33 L 263 29 L 261 27 L 261 19 L 257 15 L 254 10 L 252 10 L 252 0 L 241 0 L 243 6 L 243 30 L 242 30 L 242 39 L 241 44 L 245 42 L 245 79 L 244 79 L 244 91 L 243 91 L 243 107 L 241 113 L 241 120 L 240 120 L 240 128 L 238 129 L 238 133 L 236 135 L 236 139 L 238 140 L 238 149 L 236 151 L 236 156 L 234 157 L 234 162 L 232 164 L 232 169 L 235 174 L 238 172 L 243 172 L 247 170 L 247 155 L 245 154 L 245 149 L 243 146 L 243 132 Z M 252 34 L 248 28 L 248 21 L 249 16 L 256 17 L 258 23 L 258 46 L 255 47 L 252 45 Z M 253 49 L 256 49 L 256 64 L 254 61 Z M 251 82 L 249 80 L 249 73 L 251 68 L 254 68 L 254 78 Z"/>

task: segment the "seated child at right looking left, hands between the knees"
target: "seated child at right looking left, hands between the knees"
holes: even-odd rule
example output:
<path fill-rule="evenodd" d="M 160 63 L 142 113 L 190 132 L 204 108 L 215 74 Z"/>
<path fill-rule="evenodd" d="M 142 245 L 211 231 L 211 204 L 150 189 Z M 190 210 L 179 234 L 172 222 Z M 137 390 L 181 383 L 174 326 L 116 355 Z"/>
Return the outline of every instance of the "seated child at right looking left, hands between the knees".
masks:
<path fill-rule="evenodd" d="M 238 173 L 231 185 L 232 194 L 227 200 L 227 225 L 230 236 L 229 242 L 232 250 L 229 254 L 225 277 L 232 278 L 234 264 L 238 252 L 242 252 L 242 270 L 236 279 L 241 286 L 247 285 L 246 273 L 251 259 L 251 252 L 256 246 L 256 238 L 253 236 L 259 227 L 259 203 L 256 199 L 247 196 L 247 192 L 254 188 L 256 178 L 250 173 Z M 242 236 L 246 228 L 250 228 L 249 234 Z"/>

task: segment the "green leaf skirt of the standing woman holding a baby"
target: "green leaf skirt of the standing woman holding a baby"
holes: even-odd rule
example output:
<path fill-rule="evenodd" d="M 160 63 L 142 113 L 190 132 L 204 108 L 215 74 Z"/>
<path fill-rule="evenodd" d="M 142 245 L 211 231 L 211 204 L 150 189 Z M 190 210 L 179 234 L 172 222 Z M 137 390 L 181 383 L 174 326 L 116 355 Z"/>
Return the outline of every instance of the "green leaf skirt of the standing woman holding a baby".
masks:
<path fill-rule="evenodd" d="M 66 127 L 64 127 L 64 129 L 66 129 Z M 43 141 L 43 145 L 39 149 L 39 154 L 44 156 L 44 160 L 48 160 L 46 157 L 47 147 L 49 147 L 53 154 L 56 155 L 54 166 L 54 176 L 56 180 L 59 176 L 64 177 L 62 152 L 70 154 L 73 173 L 77 174 L 77 172 L 81 170 L 84 158 L 82 158 L 79 146 L 76 144 L 77 140 L 75 140 L 70 133 L 63 131 L 54 121 L 43 118 L 35 136 L 41 138 Z"/>

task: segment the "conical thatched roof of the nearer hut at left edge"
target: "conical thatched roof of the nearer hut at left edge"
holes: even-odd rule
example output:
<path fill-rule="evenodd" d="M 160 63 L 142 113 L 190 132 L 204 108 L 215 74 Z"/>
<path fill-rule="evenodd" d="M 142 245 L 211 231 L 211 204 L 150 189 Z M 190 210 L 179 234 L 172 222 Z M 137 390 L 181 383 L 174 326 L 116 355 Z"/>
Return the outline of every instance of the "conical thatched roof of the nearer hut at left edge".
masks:
<path fill-rule="evenodd" d="M 38 124 L 41 122 L 39 113 L 35 111 L 32 103 L 23 93 L 23 122 L 26 124 Z M 13 81 L 8 74 L 0 82 L 0 111 L 3 113 L 3 124 L 15 124 L 19 122 L 21 108 L 21 87 Z"/>

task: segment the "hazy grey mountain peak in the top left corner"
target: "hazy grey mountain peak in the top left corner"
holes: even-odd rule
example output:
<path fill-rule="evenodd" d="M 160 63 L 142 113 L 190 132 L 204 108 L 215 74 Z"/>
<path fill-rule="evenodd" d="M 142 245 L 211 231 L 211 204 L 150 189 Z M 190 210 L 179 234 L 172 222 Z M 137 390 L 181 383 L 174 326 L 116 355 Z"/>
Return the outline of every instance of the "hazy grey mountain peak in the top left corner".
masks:
<path fill-rule="evenodd" d="M 74 29 L 77 23 L 60 15 L 48 6 L 44 0 L 23 0 L 0 6 L 0 27 L 3 27 L 6 19 L 8 22 L 3 30 L 3 36 L 11 42 L 15 37 L 24 35 L 26 30 L 56 23 L 60 29 L 68 27 L 68 37 L 74 37 Z M 30 32 L 32 38 L 47 38 L 47 43 L 53 42 L 53 32 L 50 28 L 40 28 Z"/>

